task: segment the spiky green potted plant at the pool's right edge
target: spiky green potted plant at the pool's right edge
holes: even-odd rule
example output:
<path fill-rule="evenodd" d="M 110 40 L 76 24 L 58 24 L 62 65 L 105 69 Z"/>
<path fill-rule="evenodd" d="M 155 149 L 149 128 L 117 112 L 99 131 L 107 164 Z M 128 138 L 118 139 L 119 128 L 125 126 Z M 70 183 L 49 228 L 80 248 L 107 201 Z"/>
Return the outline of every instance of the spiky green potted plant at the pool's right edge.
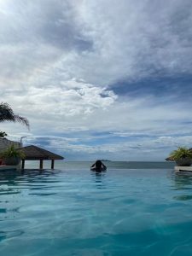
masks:
<path fill-rule="evenodd" d="M 169 159 L 176 161 L 177 166 L 191 166 L 192 151 L 189 148 L 178 147 L 177 150 L 172 151 Z"/>

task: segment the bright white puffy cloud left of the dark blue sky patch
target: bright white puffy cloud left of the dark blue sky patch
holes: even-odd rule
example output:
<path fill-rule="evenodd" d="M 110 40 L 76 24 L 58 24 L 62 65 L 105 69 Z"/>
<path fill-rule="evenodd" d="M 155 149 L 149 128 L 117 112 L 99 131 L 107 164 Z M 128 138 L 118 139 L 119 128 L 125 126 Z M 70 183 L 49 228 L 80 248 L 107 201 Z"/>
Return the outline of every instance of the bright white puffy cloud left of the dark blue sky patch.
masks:
<path fill-rule="evenodd" d="M 117 96 L 106 88 L 96 87 L 93 84 L 68 80 L 58 86 L 47 85 L 46 88 L 30 86 L 28 90 L 4 90 L 6 101 L 13 102 L 16 111 L 26 109 L 34 118 L 46 119 L 49 114 L 55 119 L 67 116 L 86 116 L 95 109 L 106 109 L 113 104 Z"/>

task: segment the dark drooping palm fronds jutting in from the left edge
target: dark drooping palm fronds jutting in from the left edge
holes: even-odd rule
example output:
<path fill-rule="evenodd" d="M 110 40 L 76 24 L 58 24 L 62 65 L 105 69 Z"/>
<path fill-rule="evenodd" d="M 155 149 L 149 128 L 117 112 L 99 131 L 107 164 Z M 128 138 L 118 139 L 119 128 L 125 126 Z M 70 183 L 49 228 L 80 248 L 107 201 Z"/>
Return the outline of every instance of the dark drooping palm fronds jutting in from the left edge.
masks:
<path fill-rule="evenodd" d="M 15 114 L 8 103 L 2 102 L 0 103 L 0 122 L 4 121 L 19 122 L 29 129 L 29 121 L 25 117 Z"/>

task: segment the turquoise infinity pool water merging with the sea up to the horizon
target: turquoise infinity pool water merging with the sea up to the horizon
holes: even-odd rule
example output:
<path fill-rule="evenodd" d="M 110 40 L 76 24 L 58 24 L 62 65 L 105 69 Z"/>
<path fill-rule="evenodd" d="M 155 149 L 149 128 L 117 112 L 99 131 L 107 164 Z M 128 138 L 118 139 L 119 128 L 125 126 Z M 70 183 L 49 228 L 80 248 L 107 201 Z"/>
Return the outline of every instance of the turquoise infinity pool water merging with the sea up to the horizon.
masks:
<path fill-rule="evenodd" d="M 192 255 L 192 177 L 155 164 L 0 172 L 0 255 Z"/>

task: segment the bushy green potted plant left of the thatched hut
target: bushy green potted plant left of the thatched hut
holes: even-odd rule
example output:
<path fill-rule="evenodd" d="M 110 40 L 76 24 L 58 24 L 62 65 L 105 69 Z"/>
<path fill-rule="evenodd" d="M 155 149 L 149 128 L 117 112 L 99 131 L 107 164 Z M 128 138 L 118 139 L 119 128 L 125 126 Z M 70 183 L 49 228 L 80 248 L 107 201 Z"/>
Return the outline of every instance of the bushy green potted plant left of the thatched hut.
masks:
<path fill-rule="evenodd" d="M 12 144 L 9 148 L 3 150 L 1 158 L 6 166 L 17 166 L 20 164 L 20 159 L 25 158 L 25 154 Z"/>

